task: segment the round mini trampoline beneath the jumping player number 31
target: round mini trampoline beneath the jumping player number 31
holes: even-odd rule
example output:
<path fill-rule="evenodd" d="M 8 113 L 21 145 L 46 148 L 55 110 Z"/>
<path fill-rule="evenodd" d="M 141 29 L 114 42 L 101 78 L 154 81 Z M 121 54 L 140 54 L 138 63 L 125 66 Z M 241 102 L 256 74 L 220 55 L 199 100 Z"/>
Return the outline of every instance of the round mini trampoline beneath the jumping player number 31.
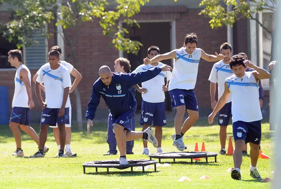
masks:
<path fill-rule="evenodd" d="M 209 157 L 215 158 L 215 163 L 217 162 L 217 153 L 215 152 L 162 152 L 149 154 L 150 160 L 152 158 L 158 159 L 159 163 L 161 163 L 161 159 L 191 159 L 191 163 L 193 160 L 198 160 L 199 158 L 206 158 L 206 162 L 208 162 Z"/>

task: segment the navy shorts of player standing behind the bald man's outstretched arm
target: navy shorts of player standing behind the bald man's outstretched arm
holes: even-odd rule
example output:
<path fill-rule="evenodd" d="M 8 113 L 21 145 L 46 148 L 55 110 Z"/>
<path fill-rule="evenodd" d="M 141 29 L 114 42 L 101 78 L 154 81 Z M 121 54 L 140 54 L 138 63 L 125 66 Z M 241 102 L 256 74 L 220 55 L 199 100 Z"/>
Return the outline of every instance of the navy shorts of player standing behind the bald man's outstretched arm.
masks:
<path fill-rule="evenodd" d="M 143 100 L 141 104 L 140 125 L 147 124 L 153 126 L 165 126 L 165 102 L 146 102 Z"/>

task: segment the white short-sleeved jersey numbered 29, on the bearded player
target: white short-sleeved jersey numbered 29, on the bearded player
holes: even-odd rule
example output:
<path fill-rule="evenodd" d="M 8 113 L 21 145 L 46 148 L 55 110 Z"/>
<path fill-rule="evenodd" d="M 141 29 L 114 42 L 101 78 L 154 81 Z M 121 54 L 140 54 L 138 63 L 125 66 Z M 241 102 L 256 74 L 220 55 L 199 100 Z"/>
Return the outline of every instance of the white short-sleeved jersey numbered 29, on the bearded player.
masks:
<path fill-rule="evenodd" d="M 209 76 L 209 81 L 218 83 L 218 99 L 220 99 L 223 91 L 225 91 L 225 79 L 231 75 L 233 75 L 233 71 L 230 69 L 229 64 L 225 64 L 222 60 L 214 64 Z M 231 95 L 227 100 L 227 103 L 228 102 L 231 102 Z"/>

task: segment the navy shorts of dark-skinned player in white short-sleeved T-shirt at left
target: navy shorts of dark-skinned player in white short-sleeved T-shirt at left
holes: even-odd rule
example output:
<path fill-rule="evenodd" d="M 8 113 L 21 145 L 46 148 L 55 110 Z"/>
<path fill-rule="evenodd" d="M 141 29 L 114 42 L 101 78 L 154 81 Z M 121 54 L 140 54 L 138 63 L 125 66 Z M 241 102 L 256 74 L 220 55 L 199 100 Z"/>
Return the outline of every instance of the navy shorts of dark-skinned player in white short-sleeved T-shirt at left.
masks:
<path fill-rule="evenodd" d="M 60 108 L 46 108 L 42 112 L 41 125 L 56 126 L 56 124 L 69 124 L 69 108 L 64 109 L 64 115 L 59 117 Z"/>

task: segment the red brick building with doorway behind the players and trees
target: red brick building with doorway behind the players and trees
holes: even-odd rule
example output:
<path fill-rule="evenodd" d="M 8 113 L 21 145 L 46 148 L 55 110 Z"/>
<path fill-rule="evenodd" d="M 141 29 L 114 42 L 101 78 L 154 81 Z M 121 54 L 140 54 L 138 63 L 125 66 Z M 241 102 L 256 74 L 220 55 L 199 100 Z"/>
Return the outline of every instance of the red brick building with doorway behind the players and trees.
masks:
<path fill-rule="evenodd" d="M 220 52 L 220 45 L 227 42 L 227 27 L 221 27 L 218 29 L 211 29 L 209 26 L 209 19 L 203 16 L 199 16 L 198 4 L 200 1 L 192 1 L 193 3 L 187 3 L 186 1 L 161 1 L 160 3 L 148 3 L 146 6 L 141 8 L 138 15 L 134 17 L 139 24 L 140 28 L 132 27 L 128 28 L 130 33 L 127 37 L 131 39 L 137 39 L 142 44 L 139 54 L 137 56 L 118 52 L 112 45 L 110 37 L 105 37 L 102 34 L 102 28 L 99 26 L 98 20 L 94 22 L 85 22 L 80 27 L 77 40 L 75 41 L 75 51 L 77 56 L 78 64 L 76 69 L 82 74 L 83 78 L 78 86 L 83 116 L 87 109 L 87 103 L 89 101 L 92 84 L 98 78 L 98 69 L 102 65 L 110 66 L 113 69 L 114 60 L 119 56 L 124 56 L 129 58 L 132 64 L 132 70 L 134 70 L 138 65 L 142 63 L 142 60 L 147 55 L 147 48 L 151 45 L 159 46 L 160 53 L 166 53 L 173 50 L 174 48 L 180 48 L 183 46 L 183 40 L 185 34 L 194 32 L 198 35 L 199 48 L 202 48 L 208 54 L 215 54 L 215 52 Z M 191 1 L 190 1 L 191 2 Z M 156 3 L 156 4 L 155 4 Z M 164 3 L 164 4 L 163 4 Z M 166 4 L 165 4 L 166 3 Z M 192 5 L 190 5 L 192 4 Z M 9 13 L 0 12 L 1 21 L 8 21 Z M 122 24 L 120 22 L 119 24 Z M 241 19 L 237 21 L 233 26 L 233 54 L 239 52 L 249 53 L 249 40 L 248 40 L 248 26 L 249 21 L 247 19 Z M 48 25 L 49 30 L 54 28 L 53 23 Z M 50 30 L 50 33 L 51 30 Z M 73 30 L 67 30 L 68 35 L 73 36 Z M 0 39 L 3 42 L 4 39 Z M 33 56 L 37 56 L 37 48 L 25 48 L 23 49 L 23 55 L 25 56 L 26 65 L 30 67 L 32 77 L 39 69 L 40 65 L 47 61 L 46 53 L 48 50 L 55 45 L 55 40 L 53 37 L 48 39 L 48 41 L 43 40 L 41 47 L 43 46 L 43 54 L 39 52 L 42 59 L 41 63 L 34 61 Z M 3 48 L 3 45 L 1 45 Z M 12 48 L 12 45 L 10 45 Z M 25 51 L 25 52 L 24 52 Z M 32 51 L 34 53 L 32 53 Z M 69 48 L 65 46 L 64 54 L 67 55 Z M 31 53 L 30 55 L 28 53 Z M 29 61 L 28 61 L 29 60 Z M 72 63 L 72 60 L 68 60 Z M 166 64 L 171 65 L 171 61 L 163 61 Z M 205 60 L 200 60 L 197 84 L 195 87 L 195 93 L 199 103 L 200 116 L 207 116 L 210 113 L 210 94 L 209 94 L 209 84 L 208 77 L 211 68 L 215 62 L 206 62 Z M 2 64 L 2 62 L 1 62 Z M 9 101 L 9 111 L 11 111 L 12 98 L 14 93 L 14 74 L 15 69 L 0 69 L 0 86 L 8 86 L 8 101 Z M 35 113 L 34 111 L 39 111 L 39 106 L 36 100 L 34 92 L 34 83 L 32 83 L 33 99 L 35 102 L 35 108 L 32 109 L 32 120 L 39 120 L 40 113 Z M 265 93 L 266 95 L 266 93 Z M 75 119 L 75 96 L 70 94 L 73 118 Z M 138 104 L 140 105 L 141 97 L 137 94 Z M 265 102 L 266 103 L 266 102 Z M 168 111 L 170 108 L 170 97 L 166 94 L 166 107 Z M 10 113 L 9 113 L 10 115 Z M 36 115 L 36 116 L 35 116 Z M 108 109 L 103 100 L 98 107 L 97 117 L 106 118 L 108 115 Z"/>

